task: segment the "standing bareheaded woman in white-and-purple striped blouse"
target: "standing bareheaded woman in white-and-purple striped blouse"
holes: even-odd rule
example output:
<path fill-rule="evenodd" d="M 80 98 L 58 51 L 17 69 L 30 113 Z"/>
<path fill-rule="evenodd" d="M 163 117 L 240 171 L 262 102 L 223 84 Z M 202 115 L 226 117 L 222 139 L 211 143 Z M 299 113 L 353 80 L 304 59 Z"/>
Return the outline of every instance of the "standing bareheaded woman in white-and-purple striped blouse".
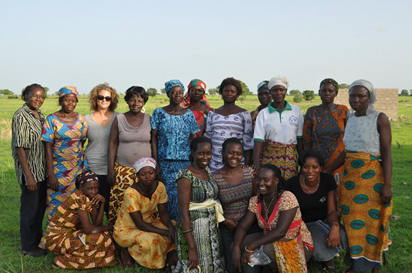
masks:
<path fill-rule="evenodd" d="M 226 139 L 237 137 L 242 141 L 244 158 L 242 163 L 251 165 L 253 149 L 252 119 L 248 110 L 236 105 L 236 100 L 242 95 L 242 85 L 235 78 L 226 78 L 219 87 L 223 106 L 211 110 L 207 116 L 205 137 L 211 139 L 212 158 L 211 171 L 223 167 L 222 144 Z"/>

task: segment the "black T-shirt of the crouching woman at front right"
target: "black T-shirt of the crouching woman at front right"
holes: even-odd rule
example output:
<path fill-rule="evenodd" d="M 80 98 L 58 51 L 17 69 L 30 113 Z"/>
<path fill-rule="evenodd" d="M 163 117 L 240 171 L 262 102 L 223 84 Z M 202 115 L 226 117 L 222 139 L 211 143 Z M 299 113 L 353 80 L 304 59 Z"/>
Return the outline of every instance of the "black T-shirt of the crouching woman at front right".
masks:
<path fill-rule="evenodd" d="M 286 190 L 295 194 L 299 202 L 304 222 L 314 222 L 328 217 L 328 192 L 334 191 L 338 185 L 331 174 L 321 172 L 319 188 L 312 194 L 301 189 L 299 176 L 294 176 L 286 182 Z"/>

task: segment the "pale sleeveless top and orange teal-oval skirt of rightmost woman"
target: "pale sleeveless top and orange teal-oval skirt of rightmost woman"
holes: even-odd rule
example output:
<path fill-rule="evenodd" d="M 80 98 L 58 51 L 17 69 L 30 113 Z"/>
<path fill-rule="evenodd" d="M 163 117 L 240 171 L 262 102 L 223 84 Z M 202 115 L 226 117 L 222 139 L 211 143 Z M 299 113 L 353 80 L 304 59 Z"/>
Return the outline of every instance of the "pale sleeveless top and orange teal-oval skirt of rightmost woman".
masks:
<path fill-rule="evenodd" d="M 364 117 L 351 114 L 343 138 L 346 159 L 341 213 L 356 271 L 379 269 L 391 244 L 392 201 L 382 204 L 379 198 L 385 182 L 376 126 L 379 114 L 378 111 Z"/>

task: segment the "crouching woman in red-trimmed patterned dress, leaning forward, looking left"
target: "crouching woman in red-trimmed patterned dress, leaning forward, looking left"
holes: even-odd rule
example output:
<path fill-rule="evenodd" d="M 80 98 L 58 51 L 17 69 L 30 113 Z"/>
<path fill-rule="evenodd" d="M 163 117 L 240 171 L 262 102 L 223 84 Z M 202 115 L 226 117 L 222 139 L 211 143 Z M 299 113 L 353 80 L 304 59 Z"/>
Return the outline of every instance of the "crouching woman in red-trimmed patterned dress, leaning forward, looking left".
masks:
<path fill-rule="evenodd" d="M 310 257 L 313 241 L 302 222 L 295 195 L 284 191 L 283 184 L 282 174 L 275 165 L 263 165 L 258 171 L 260 194 L 251 198 L 249 211 L 239 222 L 233 241 L 232 263 L 239 271 L 260 272 L 259 266 L 251 268 L 247 263 L 255 249 L 264 246 L 264 253 L 272 261 L 268 265 L 270 268 L 277 268 L 279 272 L 308 272 L 306 256 Z M 256 220 L 264 235 L 245 238 Z"/>

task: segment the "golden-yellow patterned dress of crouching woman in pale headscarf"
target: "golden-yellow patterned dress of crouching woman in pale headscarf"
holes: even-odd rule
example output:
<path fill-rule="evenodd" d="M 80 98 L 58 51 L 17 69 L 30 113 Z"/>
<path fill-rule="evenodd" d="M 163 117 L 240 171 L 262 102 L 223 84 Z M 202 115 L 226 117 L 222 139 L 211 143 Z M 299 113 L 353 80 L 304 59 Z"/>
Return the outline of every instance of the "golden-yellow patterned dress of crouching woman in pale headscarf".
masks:
<path fill-rule="evenodd" d="M 113 231 L 113 239 L 122 248 L 128 248 L 130 255 L 146 268 L 160 269 L 166 264 L 166 254 L 176 249 L 168 237 L 157 233 L 139 230 L 130 213 L 140 211 L 143 221 L 157 228 L 167 230 L 160 219 L 157 206 L 168 201 L 163 183 L 157 182 L 157 188 L 151 198 L 141 195 L 139 191 L 129 187 L 124 192 L 124 201 L 119 209 Z"/>

